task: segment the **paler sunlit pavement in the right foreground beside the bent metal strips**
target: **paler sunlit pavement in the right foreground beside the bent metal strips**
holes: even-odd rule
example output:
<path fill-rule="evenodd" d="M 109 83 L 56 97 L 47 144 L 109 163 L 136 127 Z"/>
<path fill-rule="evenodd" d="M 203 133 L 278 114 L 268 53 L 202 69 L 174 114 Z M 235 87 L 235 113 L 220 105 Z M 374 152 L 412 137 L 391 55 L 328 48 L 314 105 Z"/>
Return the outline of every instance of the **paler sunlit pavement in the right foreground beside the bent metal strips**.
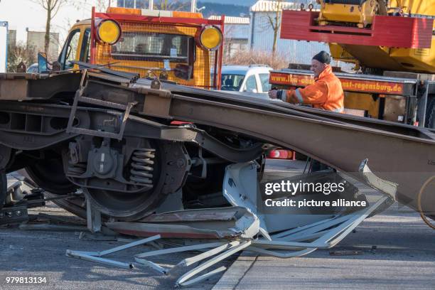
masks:
<path fill-rule="evenodd" d="M 213 288 L 218 289 L 435 289 L 435 231 L 397 205 L 363 222 L 333 250 L 279 259 L 242 254 Z M 376 246 L 372 250 L 372 246 Z"/>

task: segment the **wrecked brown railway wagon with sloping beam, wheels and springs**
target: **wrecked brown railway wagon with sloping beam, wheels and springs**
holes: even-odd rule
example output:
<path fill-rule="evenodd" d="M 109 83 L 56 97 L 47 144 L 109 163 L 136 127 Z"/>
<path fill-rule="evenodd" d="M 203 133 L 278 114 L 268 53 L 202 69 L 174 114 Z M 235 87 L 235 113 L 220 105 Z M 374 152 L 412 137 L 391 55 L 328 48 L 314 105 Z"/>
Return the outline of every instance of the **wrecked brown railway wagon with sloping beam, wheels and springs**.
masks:
<path fill-rule="evenodd" d="M 261 164 L 268 143 L 365 182 L 358 170 L 368 159 L 382 178 L 370 186 L 435 215 L 430 129 L 76 64 L 80 71 L 0 75 L 1 200 L 5 174 L 26 168 L 51 194 L 81 188 L 116 220 L 143 218 L 181 188 L 185 208 L 220 206 L 210 193 L 222 191 L 225 167 Z M 63 200 L 78 215 L 81 204 Z"/>

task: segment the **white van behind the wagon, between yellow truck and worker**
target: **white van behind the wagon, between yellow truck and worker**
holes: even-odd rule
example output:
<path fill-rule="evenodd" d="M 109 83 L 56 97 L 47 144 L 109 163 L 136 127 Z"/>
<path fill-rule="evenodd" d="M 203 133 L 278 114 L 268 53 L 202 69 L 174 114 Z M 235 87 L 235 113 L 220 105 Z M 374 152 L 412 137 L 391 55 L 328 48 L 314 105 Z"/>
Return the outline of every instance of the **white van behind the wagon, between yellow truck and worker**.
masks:
<path fill-rule="evenodd" d="M 267 93 L 270 90 L 267 65 L 222 66 L 222 90 L 233 92 Z"/>

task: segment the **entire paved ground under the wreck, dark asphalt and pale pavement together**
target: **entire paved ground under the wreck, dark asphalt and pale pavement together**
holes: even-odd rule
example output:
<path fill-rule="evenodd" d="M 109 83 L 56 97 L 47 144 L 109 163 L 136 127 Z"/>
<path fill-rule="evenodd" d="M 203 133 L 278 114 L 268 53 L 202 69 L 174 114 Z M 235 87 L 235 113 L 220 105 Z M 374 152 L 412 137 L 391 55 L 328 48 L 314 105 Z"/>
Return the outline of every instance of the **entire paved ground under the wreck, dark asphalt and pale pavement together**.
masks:
<path fill-rule="evenodd" d="M 303 165 L 275 161 L 269 170 L 296 173 Z M 32 210 L 38 212 L 80 222 L 53 204 Z M 195 289 L 435 289 L 434 242 L 435 231 L 418 215 L 394 205 L 365 220 L 334 248 L 357 249 L 362 255 L 331 256 L 328 250 L 318 250 L 306 257 L 276 259 L 244 253 L 236 261 L 235 257 L 225 261 L 231 267 L 221 279 L 215 276 Z M 66 249 L 95 251 L 117 245 L 122 244 L 79 240 L 76 232 L 0 227 L 0 289 L 44 289 L 6 285 L 6 276 L 45 276 L 46 289 L 173 289 L 176 275 L 161 276 L 151 269 L 131 272 L 65 257 Z M 109 257 L 129 262 L 147 250 L 141 246 Z M 156 261 L 168 266 L 191 255 L 171 254 Z"/>

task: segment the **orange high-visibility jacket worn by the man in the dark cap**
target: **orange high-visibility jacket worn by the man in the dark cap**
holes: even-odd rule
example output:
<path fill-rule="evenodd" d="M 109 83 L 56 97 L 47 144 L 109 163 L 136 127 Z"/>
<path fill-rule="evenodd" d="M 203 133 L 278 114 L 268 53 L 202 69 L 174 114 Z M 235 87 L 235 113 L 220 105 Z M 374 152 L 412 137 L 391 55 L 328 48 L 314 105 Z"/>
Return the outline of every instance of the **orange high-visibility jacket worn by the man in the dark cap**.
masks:
<path fill-rule="evenodd" d="M 286 102 L 293 104 L 312 104 L 314 108 L 333 112 L 344 112 L 344 92 L 341 82 L 333 72 L 331 65 L 316 78 L 313 85 L 296 90 L 286 90 Z"/>

